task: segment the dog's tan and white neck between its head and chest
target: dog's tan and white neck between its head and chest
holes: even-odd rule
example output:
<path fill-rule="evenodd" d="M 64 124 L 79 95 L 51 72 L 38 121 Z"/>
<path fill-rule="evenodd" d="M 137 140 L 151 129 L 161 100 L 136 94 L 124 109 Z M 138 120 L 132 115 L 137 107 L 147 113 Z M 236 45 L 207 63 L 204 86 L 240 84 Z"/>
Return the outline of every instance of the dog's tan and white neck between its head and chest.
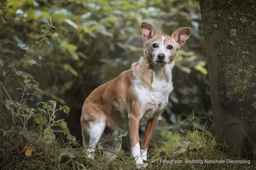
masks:
<path fill-rule="evenodd" d="M 174 61 L 170 64 L 158 65 L 147 56 L 143 56 L 138 62 L 132 64 L 133 74 L 149 88 L 152 88 L 155 79 L 171 83 L 173 67 Z"/>

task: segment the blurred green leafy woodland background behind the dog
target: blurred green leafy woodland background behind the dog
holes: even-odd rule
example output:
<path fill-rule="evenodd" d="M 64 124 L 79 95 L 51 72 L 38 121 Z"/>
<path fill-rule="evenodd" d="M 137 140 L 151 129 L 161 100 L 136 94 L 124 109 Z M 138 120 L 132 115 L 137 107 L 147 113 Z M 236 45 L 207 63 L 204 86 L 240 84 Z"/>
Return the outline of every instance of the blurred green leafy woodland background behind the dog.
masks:
<path fill-rule="evenodd" d="M 173 70 L 174 91 L 159 118 L 151 145 L 161 145 L 175 132 L 189 127 L 192 116 L 207 117 L 211 98 L 199 2 L 197 0 L 7 0 L 8 12 L 1 14 L 1 61 L 17 61 L 27 48 L 37 41 L 41 26 L 52 18 L 55 27 L 47 47 L 41 51 L 37 65 L 11 67 L 22 71 L 29 79 L 39 82 L 27 89 L 36 96 L 28 96 L 27 105 L 36 107 L 40 101 L 56 100 L 67 105 L 65 119 L 70 133 L 82 141 L 80 117 L 86 97 L 99 85 L 117 77 L 143 55 L 140 22 L 154 24 L 159 34 L 171 35 L 181 27 L 192 29 L 190 38 L 179 50 Z M 8 56 L 8 59 L 7 57 Z M 0 63 L 1 64 L 1 63 Z M 1 74 L 4 66 L 1 64 Z M 2 80 L 4 81 L 4 80 Z M 23 78 L 13 75 L 6 82 L 13 100 L 18 101 L 25 86 Z M 195 120 L 204 128 L 204 122 Z M 144 126 L 140 128 L 142 137 Z M 80 142 L 82 144 L 82 142 Z M 123 139 L 124 151 L 129 150 L 129 137 Z M 126 147 L 126 148 L 125 148 Z"/>

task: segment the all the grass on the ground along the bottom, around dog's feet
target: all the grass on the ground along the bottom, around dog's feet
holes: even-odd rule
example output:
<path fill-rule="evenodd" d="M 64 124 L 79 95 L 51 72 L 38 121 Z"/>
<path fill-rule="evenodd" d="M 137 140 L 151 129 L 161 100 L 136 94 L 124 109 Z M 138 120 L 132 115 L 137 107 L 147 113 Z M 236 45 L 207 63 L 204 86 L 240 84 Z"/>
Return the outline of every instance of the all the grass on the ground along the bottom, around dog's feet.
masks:
<path fill-rule="evenodd" d="M 181 143 L 190 142 L 186 154 L 178 158 L 172 158 L 171 154 Z M 37 153 L 27 157 L 22 149 L 27 143 L 31 143 Z M 256 169 L 255 160 L 250 164 L 227 164 L 226 160 L 245 160 L 236 157 L 234 152 L 224 152 L 225 145 L 215 142 L 210 131 L 193 128 L 185 131 L 184 135 L 175 135 L 162 146 L 148 151 L 148 166 L 146 169 L 174 169 L 174 170 L 241 170 Z M 184 148 L 183 148 L 184 149 Z M 1 160 L 2 155 L 2 160 Z M 136 169 L 133 159 L 118 157 L 112 162 L 101 158 L 101 152 L 96 152 L 95 160 L 89 160 L 83 152 L 83 148 L 77 142 L 68 142 L 60 146 L 57 142 L 46 143 L 42 135 L 29 130 L 10 131 L 0 134 L 0 169 Z M 162 160 L 180 160 L 183 163 L 162 163 Z M 198 163 L 185 163 L 186 160 L 197 160 Z M 225 163 L 205 163 L 208 160 L 224 160 Z M 161 160 L 161 161 L 160 161 Z M 201 164 L 199 160 L 202 160 Z M 2 162 L 1 162 L 2 161 Z"/>

